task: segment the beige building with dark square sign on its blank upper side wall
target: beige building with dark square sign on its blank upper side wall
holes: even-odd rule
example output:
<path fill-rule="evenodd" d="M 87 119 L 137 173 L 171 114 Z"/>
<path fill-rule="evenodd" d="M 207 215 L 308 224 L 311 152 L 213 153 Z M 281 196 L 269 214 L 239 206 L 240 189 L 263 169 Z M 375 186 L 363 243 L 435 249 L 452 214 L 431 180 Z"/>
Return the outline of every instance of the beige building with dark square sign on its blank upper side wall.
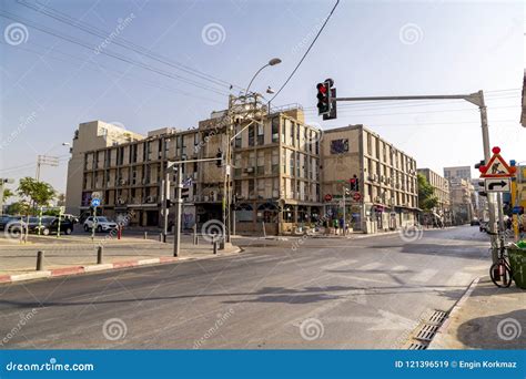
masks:
<path fill-rule="evenodd" d="M 355 229 L 371 233 L 416 222 L 416 162 L 373 131 L 363 125 L 324 131 L 322 166 L 327 218 L 343 217 L 343 186 L 356 175 L 358 191 L 345 198 Z"/>

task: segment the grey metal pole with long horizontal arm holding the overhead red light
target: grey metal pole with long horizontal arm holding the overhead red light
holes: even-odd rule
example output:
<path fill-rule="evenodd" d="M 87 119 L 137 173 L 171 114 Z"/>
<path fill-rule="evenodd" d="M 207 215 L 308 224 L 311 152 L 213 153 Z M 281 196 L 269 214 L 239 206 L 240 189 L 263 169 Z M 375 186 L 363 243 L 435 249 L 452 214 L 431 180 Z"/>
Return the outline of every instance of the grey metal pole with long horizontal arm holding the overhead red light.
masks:
<path fill-rule="evenodd" d="M 378 100 L 465 100 L 474 105 L 477 105 L 481 111 L 481 126 L 482 126 L 482 136 L 483 136 L 483 146 L 484 146 L 484 160 L 487 164 L 489 158 L 492 157 L 489 151 L 489 132 L 487 125 L 487 109 L 484 102 L 484 92 L 478 91 L 475 93 L 469 94 L 457 94 L 457 95 L 416 95 L 416 96 L 360 96 L 360 98 L 334 98 L 332 101 L 334 102 L 343 102 L 343 101 L 378 101 Z M 493 194 L 488 194 L 487 196 L 488 207 L 489 207 L 489 232 L 496 232 L 496 212 L 495 212 L 495 197 Z M 492 234 L 492 243 L 496 242 L 496 236 Z M 494 262 L 496 257 L 493 257 Z"/>

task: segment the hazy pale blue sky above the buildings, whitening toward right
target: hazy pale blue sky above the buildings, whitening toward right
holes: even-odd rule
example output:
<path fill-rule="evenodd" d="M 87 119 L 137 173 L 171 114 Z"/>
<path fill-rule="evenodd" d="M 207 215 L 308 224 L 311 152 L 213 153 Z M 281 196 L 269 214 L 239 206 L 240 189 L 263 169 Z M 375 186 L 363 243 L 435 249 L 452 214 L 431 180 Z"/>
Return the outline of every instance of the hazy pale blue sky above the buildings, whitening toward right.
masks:
<path fill-rule="evenodd" d="M 196 126 L 275 57 L 282 63 L 264 69 L 251 90 L 280 89 L 334 3 L 3 0 L 0 176 L 34 176 L 37 155 L 59 156 L 58 167 L 42 167 L 41 180 L 64 192 L 69 152 L 62 143 L 71 143 L 81 122 L 102 120 L 143 134 Z M 519 124 L 525 16 L 523 1 L 342 0 L 272 105 L 301 104 L 306 122 L 322 129 L 364 124 L 418 167 L 443 174 L 444 166 L 473 166 L 484 157 L 475 105 L 338 103 L 337 120 L 322 121 L 315 85 L 332 78 L 338 96 L 483 90 L 490 145 L 506 160 L 526 161 Z"/>

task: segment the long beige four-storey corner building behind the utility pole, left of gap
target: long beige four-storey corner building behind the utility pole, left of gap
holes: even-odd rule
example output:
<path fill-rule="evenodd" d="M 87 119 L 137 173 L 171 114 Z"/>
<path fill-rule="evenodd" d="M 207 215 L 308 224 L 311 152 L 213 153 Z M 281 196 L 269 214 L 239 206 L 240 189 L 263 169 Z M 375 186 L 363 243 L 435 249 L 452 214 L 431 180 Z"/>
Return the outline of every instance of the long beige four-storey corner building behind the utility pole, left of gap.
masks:
<path fill-rule="evenodd" d="M 214 157 L 226 151 L 222 112 L 186 131 L 161 129 L 148 136 L 91 143 L 102 122 L 80 124 L 69 170 L 78 173 L 68 186 L 69 209 L 90 212 L 93 192 L 102 196 L 101 212 L 112 218 L 127 216 L 131 225 L 158 226 L 162 180 L 169 161 Z M 100 126 L 102 127 L 102 126 Z M 305 125 L 301 109 L 281 110 L 243 130 L 232 141 L 233 219 L 237 232 L 289 233 L 314 223 L 321 214 L 320 135 Z M 235 133 L 236 134 L 236 133 Z M 89 148 L 91 147 L 91 148 Z M 182 165 L 188 187 L 183 227 L 221 219 L 225 167 L 215 162 Z M 171 197 L 174 180 L 171 176 Z M 71 176 L 70 176 L 71 177 Z M 69 178 L 70 178 L 69 177 Z M 70 181 L 70 180 L 69 180 Z M 69 182 L 68 181 L 68 182 Z M 131 212 L 133 211 L 133 212 Z M 172 215 L 173 217 L 173 215 Z"/>

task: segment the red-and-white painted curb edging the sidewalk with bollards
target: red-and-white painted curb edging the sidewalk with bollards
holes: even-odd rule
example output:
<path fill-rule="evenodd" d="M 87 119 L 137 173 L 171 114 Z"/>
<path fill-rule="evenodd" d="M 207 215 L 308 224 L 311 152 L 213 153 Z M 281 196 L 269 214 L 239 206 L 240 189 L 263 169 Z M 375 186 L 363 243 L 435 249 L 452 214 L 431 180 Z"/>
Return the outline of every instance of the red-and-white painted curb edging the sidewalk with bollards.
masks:
<path fill-rule="evenodd" d="M 159 258 L 148 258 L 148 259 L 136 259 L 136 260 L 121 260 L 121 262 L 114 262 L 114 263 L 101 264 L 101 265 L 71 266 L 71 267 L 53 268 L 49 270 L 14 274 L 14 275 L 0 275 L 0 285 L 8 285 L 8 284 L 13 284 L 13 283 L 29 281 L 29 280 L 36 280 L 36 279 L 49 279 L 49 278 L 71 276 L 71 275 L 81 275 L 81 274 L 89 274 L 89 273 L 109 272 L 109 270 L 117 270 L 121 268 L 163 265 L 163 264 L 171 264 L 175 262 L 210 259 L 210 258 L 224 257 L 227 255 L 239 254 L 241 252 L 243 252 L 243 249 L 237 247 L 236 249 L 229 253 L 223 253 L 223 254 L 218 254 L 218 255 L 208 254 L 202 257 L 181 257 L 181 258 L 159 257 Z"/>

